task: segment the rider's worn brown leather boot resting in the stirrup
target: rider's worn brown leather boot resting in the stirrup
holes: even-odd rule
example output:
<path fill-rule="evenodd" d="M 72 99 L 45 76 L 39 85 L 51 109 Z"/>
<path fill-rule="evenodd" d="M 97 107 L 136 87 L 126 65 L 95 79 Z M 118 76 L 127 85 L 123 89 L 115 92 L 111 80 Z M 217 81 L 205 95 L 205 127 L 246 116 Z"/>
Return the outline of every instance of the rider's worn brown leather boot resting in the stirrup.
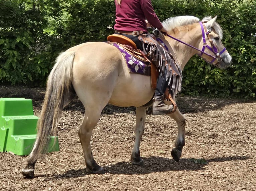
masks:
<path fill-rule="evenodd" d="M 164 95 L 154 95 L 152 108 L 153 115 L 167 114 L 173 110 L 173 105 L 167 105 L 163 100 Z"/>

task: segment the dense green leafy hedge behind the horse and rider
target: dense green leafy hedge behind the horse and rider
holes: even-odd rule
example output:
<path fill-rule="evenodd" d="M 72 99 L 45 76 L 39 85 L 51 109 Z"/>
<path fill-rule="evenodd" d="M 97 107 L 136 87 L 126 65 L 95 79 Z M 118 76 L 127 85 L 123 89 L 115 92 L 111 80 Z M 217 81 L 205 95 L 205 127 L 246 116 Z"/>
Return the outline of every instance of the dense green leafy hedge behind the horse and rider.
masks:
<path fill-rule="evenodd" d="M 57 54 L 113 34 L 114 0 L 0 0 L 0 80 L 44 85 Z M 45 6 L 45 3 L 47 6 Z M 254 0 L 152 0 L 161 21 L 180 15 L 218 15 L 223 44 L 232 55 L 225 70 L 195 56 L 183 70 L 182 94 L 255 97 L 256 2 Z"/>

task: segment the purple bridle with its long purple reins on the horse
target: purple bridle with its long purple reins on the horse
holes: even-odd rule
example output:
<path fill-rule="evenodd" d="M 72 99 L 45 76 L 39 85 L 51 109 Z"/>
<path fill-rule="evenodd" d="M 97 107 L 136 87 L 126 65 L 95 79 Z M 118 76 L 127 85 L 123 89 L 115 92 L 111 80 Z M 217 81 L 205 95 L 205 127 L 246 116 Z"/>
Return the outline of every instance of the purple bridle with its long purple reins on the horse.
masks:
<path fill-rule="evenodd" d="M 183 41 L 181 41 L 181 40 L 179 40 L 179 39 L 176 39 L 175 37 L 172 37 L 172 36 L 170 36 L 170 35 L 168 35 L 168 34 L 167 34 L 166 36 L 168 36 L 168 37 L 170 37 L 170 38 L 172 38 L 172 39 L 174 39 L 174 40 L 176 40 L 176 41 L 178 41 L 178 42 L 180 42 L 180 43 L 183 43 L 183 44 L 185 44 L 185 45 L 187 45 L 187 46 L 189 46 L 189 47 L 191 47 L 191 48 L 194 48 L 194 49 L 198 50 L 199 52 L 201 52 L 200 56 L 202 56 L 203 54 L 205 54 L 205 55 L 207 55 L 207 56 L 209 56 L 209 57 L 212 57 L 213 60 L 210 62 L 211 64 L 217 59 L 217 60 L 218 60 L 218 63 L 215 64 L 214 66 L 218 66 L 218 65 L 220 64 L 220 62 L 222 61 L 222 57 L 221 57 L 220 55 L 221 55 L 223 52 L 225 52 L 226 48 L 224 47 L 224 49 L 223 49 L 221 52 L 218 52 L 219 50 L 218 50 L 217 46 L 214 45 L 213 40 L 212 40 L 212 39 L 210 38 L 210 36 L 209 36 L 209 33 L 211 33 L 212 30 L 210 29 L 209 31 L 207 31 L 207 30 L 206 30 L 206 27 L 205 27 L 205 25 L 204 25 L 204 22 L 199 22 L 199 23 L 200 23 L 200 26 L 201 26 L 201 29 L 202 29 L 203 43 L 204 43 L 202 50 L 200 50 L 200 49 L 198 49 L 198 48 L 196 48 L 196 47 L 193 47 L 193 46 L 191 46 L 191 45 L 189 45 L 189 44 L 187 44 L 187 43 L 185 43 L 185 42 L 183 42 Z M 209 39 L 209 42 L 211 43 L 211 46 L 212 46 L 212 47 L 210 47 L 210 46 L 206 43 L 205 34 L 207 35 L 207 37 L 208 37 L 208 39 Z M 160 41 L 161 44 L 163 44 L 164 47 L 166 48 L 166 50 L 168 51 L 168 48 L 167 48 L 166 45 L 163 43 L 163 41 L 162 41 L 160 38 L 158 38 L 157 40 Z M 205 52 L 205 48 L 206 48 L 206 47 L 207 47 L 210 51 L 212 51 L 212 52 L 215 54 L 215 56 L 212 56 L 212 55 L 206 53 L 206 52 Z"/>

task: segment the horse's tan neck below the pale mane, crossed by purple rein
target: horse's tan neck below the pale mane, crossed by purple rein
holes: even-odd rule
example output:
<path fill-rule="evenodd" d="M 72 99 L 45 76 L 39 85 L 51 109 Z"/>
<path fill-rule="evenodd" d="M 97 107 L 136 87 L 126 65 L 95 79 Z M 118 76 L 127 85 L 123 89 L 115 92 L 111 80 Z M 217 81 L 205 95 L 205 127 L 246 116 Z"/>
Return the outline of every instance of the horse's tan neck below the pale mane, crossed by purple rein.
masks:
<path fill-rule="evenodd" d="M 200 33 L 198 32 L 195 33 L 195 31 L 187 32 L 184 30 L 177 30 L 169 33 L 170 36 L 194 47 L 198 47 L 200 44 L 201 36 L 199 34 Z M 188 60 L 197 52 L 195 49 L 179 43 L 170 37 L 165 37 L 164 41 L 166 41 L 169 52 L 173 55 L 181 70 L 183 70 Z"/>

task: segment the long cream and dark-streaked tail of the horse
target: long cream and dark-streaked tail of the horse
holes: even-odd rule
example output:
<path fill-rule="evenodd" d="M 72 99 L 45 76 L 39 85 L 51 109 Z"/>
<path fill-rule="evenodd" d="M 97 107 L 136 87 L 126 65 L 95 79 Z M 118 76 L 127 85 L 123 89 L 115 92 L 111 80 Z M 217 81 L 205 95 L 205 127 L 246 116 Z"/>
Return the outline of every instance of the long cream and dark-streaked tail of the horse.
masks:
<path fill-rule="evenodd" d="M 37 137 L 27 162 L 34 164 L 40 153 L 45 153 L 51 135 L 57 134 L 57 125 L 61 111 L 65 106 L 65 98 L 71 94 L 72 68 L 75 52 L 63 52 L 51 70 L 43 100 L 42 111 L 37 123 Z"/>

